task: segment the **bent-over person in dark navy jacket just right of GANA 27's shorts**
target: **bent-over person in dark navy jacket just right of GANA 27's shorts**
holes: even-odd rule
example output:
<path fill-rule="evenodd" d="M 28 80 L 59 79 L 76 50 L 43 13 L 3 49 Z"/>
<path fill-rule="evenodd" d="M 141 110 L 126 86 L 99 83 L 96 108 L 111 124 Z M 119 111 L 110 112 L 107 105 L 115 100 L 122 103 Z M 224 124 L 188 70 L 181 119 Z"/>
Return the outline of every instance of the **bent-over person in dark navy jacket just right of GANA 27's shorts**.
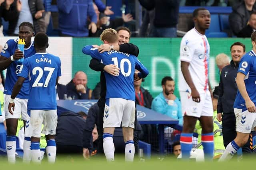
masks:
<path fill-rule="evenodd" d="M 58 154 L 81 154 L 86 113 L 64 112 L 58 117 L 56 145 Z"/>

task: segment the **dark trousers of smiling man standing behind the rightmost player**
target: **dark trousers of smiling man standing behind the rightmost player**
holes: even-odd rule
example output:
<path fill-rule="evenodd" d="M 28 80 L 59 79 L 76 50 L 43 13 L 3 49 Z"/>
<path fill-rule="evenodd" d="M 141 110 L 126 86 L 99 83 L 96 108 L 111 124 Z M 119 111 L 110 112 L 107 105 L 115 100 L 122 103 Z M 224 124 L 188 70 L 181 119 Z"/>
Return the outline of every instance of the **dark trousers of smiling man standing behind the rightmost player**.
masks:
<path fill-rule="evenodd" d="M 255 131 L 250 133 L 250 137 L 256 135 Z M 235 113 L 223 113 L 222 114 L 222 136 L 224 147 L 226 148 L 230 142 L 236 138 L 236 117 Z M 252 153 L 250 145 L 250 137 L 247 143 L 242 147 L 243 153 Z"/>

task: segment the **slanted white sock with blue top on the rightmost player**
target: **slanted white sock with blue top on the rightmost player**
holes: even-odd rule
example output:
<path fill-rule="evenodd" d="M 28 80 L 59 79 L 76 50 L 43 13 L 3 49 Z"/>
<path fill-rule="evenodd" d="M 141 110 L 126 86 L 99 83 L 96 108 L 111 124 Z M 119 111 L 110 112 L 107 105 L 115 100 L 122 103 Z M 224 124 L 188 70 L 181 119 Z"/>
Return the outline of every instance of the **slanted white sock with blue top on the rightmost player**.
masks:
<path fill-rule="evenodd" d="M 230 142 L 218 162 L 230 160 L 239 148 L 235 141 Z"/>

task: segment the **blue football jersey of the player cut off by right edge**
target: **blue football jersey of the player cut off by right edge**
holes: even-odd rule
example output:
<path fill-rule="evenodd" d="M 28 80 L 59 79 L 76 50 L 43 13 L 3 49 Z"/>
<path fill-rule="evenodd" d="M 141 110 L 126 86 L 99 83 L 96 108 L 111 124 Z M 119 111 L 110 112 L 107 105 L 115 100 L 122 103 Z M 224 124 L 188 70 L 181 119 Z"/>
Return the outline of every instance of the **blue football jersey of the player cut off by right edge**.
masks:
<path fill-rule="evenodd" d="M 239 64 L 238 72 L 246 75 L 244 78 L 244 83 L 246 91 L 254 104 L 256 104 L 256 55 L 254 51 L 246 53 Z M 234 108 L 246 109 L 245 100 L 240 94 L 239 90 L 236 94 L 236 100 L 234 102 Z"/>

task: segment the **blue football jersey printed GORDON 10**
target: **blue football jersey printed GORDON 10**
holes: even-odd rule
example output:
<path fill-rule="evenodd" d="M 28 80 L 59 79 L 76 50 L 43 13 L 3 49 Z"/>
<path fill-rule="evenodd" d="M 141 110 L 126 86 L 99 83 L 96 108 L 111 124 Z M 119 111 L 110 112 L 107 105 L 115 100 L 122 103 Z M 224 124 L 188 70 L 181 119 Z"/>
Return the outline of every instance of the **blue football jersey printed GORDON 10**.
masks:
<path fill-rule="evenodd" d="M 82 52 L 98 61 L 102 61 L 105 65 L 116 64 L 120 68 L 118 76 L 112 76 L 104 72 L 107 86 L 106 99 L 124 98 L 135 101 L 134 71 L 135 69 L 140 71 L 138 74 L 140 78 L 148 75 L 147 68 L 138 61 L 137 57 L 114 50 L 99 53 L 98 48 L 92 48 L 91 45 L 85 46 Z"/>

